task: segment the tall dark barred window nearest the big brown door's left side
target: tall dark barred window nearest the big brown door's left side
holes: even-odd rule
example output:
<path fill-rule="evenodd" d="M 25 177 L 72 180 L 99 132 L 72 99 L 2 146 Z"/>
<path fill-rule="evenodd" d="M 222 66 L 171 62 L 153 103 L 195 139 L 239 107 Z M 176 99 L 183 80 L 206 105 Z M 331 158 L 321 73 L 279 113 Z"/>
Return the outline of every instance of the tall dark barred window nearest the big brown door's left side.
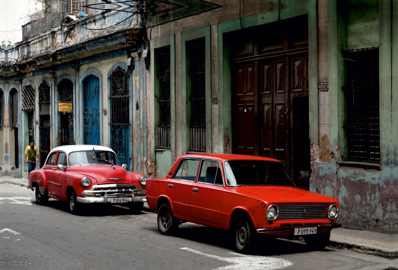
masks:
<path fill-rule="evenodd" d="M 190 46 L 191 150 L 206 151 L 205 50 L 204 38 Z"/>

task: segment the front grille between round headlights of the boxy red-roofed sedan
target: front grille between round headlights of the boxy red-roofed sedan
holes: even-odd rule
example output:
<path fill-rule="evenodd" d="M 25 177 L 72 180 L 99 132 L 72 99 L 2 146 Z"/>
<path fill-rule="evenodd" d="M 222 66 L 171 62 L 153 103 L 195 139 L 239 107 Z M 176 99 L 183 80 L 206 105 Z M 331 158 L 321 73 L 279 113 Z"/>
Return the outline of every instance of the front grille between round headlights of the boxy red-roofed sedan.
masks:
<path fill-rule="evenodd" d="M 279 215 L 276 220 L 326 219 L 328 207 L 329 205 L 278 205 Z"/>

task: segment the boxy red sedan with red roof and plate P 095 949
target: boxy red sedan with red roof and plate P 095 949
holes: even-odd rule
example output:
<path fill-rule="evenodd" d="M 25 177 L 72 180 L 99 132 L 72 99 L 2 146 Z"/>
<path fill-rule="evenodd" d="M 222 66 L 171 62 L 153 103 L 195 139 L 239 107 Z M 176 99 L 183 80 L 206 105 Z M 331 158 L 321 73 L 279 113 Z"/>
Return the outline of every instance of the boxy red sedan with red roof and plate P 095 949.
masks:
<path fill-rule="evenodd" d="M 173 234 L 183 222 L 230 230 L 240 253 L 259 234 L 302 236 L 320 250 L 341 227 L 336 199 L 297 188 L 284 164 L 271 158 L 183 155 L 166 178 L 148 180 L 146 192 L 161 234 Z"/>

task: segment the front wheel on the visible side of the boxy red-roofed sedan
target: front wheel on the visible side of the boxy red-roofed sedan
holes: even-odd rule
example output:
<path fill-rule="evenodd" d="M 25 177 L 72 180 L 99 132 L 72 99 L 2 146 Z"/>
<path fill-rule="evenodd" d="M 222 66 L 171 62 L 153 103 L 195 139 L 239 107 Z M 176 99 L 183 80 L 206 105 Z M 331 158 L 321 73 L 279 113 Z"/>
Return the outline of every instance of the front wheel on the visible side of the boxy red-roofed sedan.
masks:
<path fill-rule="evenodd" d="M 241 254 L 249 253 L 254 246 L 256 234 L 251 220 L 247 217 L 237 219 L 232 230 L 235 239 L 235 250 Z"/>

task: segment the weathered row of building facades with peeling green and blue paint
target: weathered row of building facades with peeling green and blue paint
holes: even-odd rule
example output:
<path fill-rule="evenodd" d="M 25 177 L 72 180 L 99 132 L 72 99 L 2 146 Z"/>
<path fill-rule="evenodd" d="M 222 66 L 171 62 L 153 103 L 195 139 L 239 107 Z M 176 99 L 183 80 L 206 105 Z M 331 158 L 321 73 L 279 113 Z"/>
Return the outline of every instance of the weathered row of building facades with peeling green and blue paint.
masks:
<path fill-rule="evenodd" d="M 338 198 L 345 228 L 397 232 L 395 1 L 147 8 L 145 27 L 86 10 L 0 49 L 3 174 L 26 176 L 31 137 L 41 162 L 57 145 L 102 144 L 152 178 L 190 152 L 268 156 L 299 188 Z"/>

